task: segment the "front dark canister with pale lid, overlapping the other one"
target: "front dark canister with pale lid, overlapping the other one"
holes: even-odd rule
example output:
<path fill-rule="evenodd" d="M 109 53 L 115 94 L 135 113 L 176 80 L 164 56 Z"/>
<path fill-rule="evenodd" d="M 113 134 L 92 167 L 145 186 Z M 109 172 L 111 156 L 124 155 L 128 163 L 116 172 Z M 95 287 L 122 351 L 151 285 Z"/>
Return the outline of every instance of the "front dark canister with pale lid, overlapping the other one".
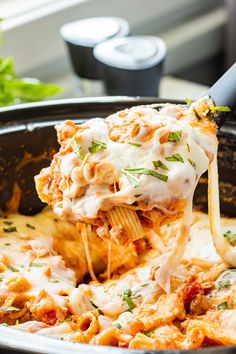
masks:
<path fill-rule="evenodd" d="M 94 48 L 94 56 L 100 62 L 108 95 L 158 95 L 166 56 L 166 46 L 161 38 L 110 39 Z"/>

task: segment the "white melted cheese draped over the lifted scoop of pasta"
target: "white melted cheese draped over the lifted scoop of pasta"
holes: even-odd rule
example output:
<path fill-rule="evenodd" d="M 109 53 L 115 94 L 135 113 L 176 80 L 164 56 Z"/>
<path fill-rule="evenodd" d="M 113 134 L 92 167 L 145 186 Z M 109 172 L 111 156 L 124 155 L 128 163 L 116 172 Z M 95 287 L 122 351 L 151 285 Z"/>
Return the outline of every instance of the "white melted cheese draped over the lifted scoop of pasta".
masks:
<path fill-rule="evenodd" d="M 173 113 L 172 106 L 168 110 L 157 112 L 151 108 L 134 107 L 127 110 L 131 117 L 137 115 L 140 118 L 139 133 L 129 141 L 122 135 L 124 141 L 117 142 L 110 138 L 109 127 L 113 120 L 118 120 L 119 113 L 108 117 L 107 120 L 96 118 L 84 124 L 85 129 L 79 129 L 76 139 L 83 152 L 88 152 L 93 141 L 106 144 L 106 148 L 95 153 L 89 153 L 85 162 L 80 161 L 74 152 L 62 154 L 60 171 L 63 177 L 71 176 L 72 186 L 62 191 L 63 201 L 54 205 L 54 211 L 61 217 L 73 220 L 95 218 L 99 210 L 108 210 L 112 206 L 133 204 L 141 195 L 139 201 L 145 202 L 148 209 L 169 200 L 186 199 L 196 186 L 196 180 L 207 170 L 208 155 L 216 154 L 217 140 L 215 134 L 202 132 L 198 127 L 192 127 L 187 120 L 179 120 Z M 137 122 L 139 119 L 137 118 Z M 63 123 L 64 125 L 66 123 Z M 60 126 L 58 129 L 66 130 Z M 121 123 L 122 124 L 122 123 Z M 124 124 L 124 123 L 123 123 Z M 153 130 L 150 138 L 147 133 Z M 149 129 L 149 130 L 148 130 Z M 166 141 L 161 143 L 161 137 L 169 132 L 181 131 L 178 142 Z M 73 141 L 74 137 L 71 138 Z M 131 143 L 131 144 L 130 144 Z M 136 144 L 132 145 L 132 144 Z M 138 146 L 137 146 L 138 145 Z M 179 154 L 180 161 L 167 161 L 166 157 Z M 159 168 L 158 173 L 168 176 L 168 181 L 162 181 L 151 175 L 135 175 L 139 185 L 133 187 L 124 169 L 146 168 L 155 170 L 153 161 L 161 160 L 168 170 Z M 73 170 L 81 166 L 82 174 L 86 175 L 86 165 L 107 163 L 112 166 L 114 182 L 118 182 L 119 191 L 111 192 L 111 182 L 90 180 L 86 184 L 86 191 L 80 197 L 74 198 L 74 191 L 81 186 L 78 178 L 73 178 Z"/>

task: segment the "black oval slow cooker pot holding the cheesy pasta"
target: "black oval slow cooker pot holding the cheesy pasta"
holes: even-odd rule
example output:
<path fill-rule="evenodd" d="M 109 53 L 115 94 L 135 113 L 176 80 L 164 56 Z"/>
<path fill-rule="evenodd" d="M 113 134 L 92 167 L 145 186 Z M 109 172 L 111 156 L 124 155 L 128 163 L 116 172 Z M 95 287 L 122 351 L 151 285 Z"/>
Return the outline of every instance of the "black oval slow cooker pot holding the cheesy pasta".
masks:
<path fill-rule="evenodd" d="M 54 125 L 65 119 L 77 123 L 107 115 L 126 107 L 163 102 L 157 99 L 103 98 L 51 101 L 0 110 L 0 208 L 5 209 L 17 182 L 22 194 L 19 212 L 32 215 L 43 208 L 37 197 L 33 177 L 47 166 L 57 149 Z M 179 102 L 174 102 L 179 103 Z M 221 212 L 236 216 L 236 125 L 229 122 L 219 134 L 219 173 Z M 30 157 L 30 158 L 29 158 Z M 202 178 L 195 193 L 195 207 L 207 208 L 207 176 Z M 0 352 L 24 353 L 157 353 L 157 351 L 127 350 L 59 342 L 37 335 L 0 327 Z M 181 353 L 184 351 L 164 351 Z M 189 351 L 192 352 L 192 351 Z M 236 353 L 235 347 L 195 350 L 196 353 Z M 161 353 L 159 351 L 159 353 Z"/>

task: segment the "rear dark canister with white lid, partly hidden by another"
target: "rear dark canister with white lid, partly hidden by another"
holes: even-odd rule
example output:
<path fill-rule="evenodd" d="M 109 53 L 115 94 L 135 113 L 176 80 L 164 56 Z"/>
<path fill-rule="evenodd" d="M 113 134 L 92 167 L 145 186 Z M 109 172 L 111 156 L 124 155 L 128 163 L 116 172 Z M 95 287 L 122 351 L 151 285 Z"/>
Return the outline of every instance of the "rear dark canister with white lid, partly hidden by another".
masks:
<path fill-rule="evenodd" d="M 92 17 L 62 26 L 61 36 L 67 44 L 73 70 L 82 79 L 80 84 L 85 95 L 100 93 L 96 92 L 101 85 L 101 75 L 93 56 L 94 47 L 106 39 L 128 34 L 129 24 L 120 17 Z"/>

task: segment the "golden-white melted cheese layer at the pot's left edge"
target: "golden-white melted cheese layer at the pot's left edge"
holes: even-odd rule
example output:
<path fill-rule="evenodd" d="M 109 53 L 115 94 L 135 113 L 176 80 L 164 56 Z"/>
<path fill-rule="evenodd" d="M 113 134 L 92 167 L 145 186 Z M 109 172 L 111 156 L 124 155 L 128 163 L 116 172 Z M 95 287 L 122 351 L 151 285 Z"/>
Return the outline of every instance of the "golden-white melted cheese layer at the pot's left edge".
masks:
<path fill-rule="evenodd" d="M 4 232 L 12 226 L 16 232 Z M 0 260 L 1 257 L 3 261 L 6 259 L 6 269 L 1 272 L 1 289 L 14 276 L 23 276 L 30 283 L 25 294 L 34 297 L 44 289 L 66 309 L 67 299 L 63 295 L 75 287 L 75 274 L 65 267 L 62 257 L 53 249 L 52 237 L 56 232 L 50 211 L 34 217 L 14 214 L 1 219 Z"/>

